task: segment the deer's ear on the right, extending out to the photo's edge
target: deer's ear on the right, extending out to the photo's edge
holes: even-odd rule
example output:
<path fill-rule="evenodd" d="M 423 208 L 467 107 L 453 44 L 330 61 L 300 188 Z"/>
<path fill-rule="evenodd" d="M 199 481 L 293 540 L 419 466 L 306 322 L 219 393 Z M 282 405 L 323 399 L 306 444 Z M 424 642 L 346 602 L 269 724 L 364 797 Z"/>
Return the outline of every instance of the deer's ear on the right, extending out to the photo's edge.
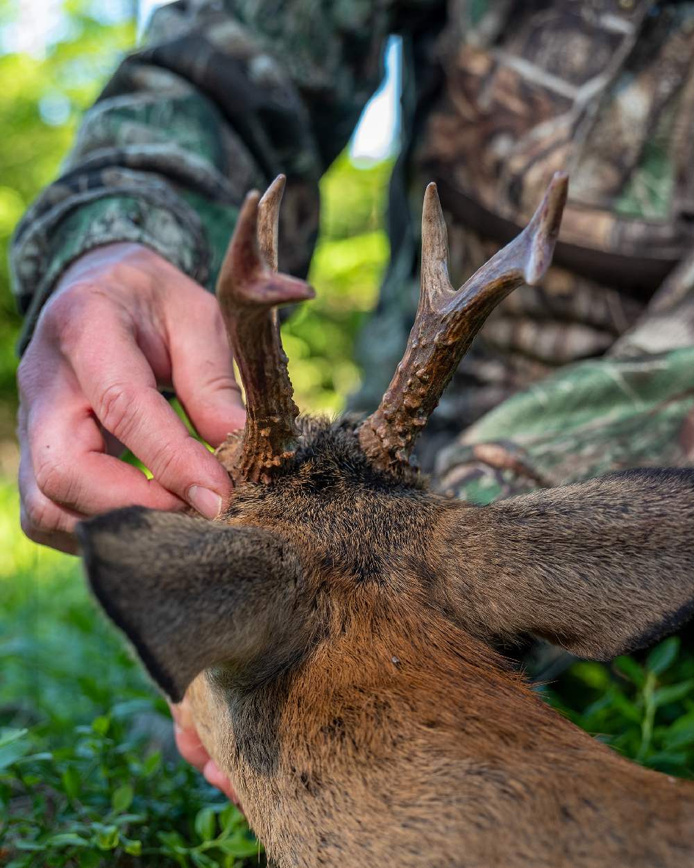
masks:
<path fill-rule="evenodd" d="M 629 470 L 465 515 L 448 593 L 481 631 L 608 660 L 694 615 L 694 470 Z"/>

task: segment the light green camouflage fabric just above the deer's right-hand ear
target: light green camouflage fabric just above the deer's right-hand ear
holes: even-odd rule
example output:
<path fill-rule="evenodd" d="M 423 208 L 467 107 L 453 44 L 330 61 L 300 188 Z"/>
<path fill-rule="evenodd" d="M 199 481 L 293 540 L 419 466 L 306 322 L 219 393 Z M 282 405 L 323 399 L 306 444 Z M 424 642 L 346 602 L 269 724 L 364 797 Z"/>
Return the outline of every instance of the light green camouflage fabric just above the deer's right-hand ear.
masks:
<path fill-rule="evenodd" d="M 694 464 L 694 253 L 603 358 L 508 398 L 438 456 L 473 503 L 634 467 Z"/>

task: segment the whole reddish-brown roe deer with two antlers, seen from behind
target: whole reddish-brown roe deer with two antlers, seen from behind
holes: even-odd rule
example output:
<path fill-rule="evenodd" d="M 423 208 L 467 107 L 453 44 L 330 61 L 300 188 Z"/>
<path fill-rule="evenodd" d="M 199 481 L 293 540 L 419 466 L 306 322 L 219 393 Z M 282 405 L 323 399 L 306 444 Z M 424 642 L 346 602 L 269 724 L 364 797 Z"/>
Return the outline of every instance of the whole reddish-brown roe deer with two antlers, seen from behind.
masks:
<path fill-rule="evenodd" d="M 246 388 L 223 518 L 131 508 L 80 529 L 96 597 L 229 774 L 280 868 L 694 864 L 694 785 L 547 707 L 494 650 L 534 634 L 605 660 L 694 606 L 694 470 L 630 470 L 475 507 L 409 461 L 463 352 L 546 270 L 557 174 L 458 291 L 435 185 L 403 361 L 363 422 L 304 418 L 277 306 L 283 179 L 248 194 L 218 296 Z"/>

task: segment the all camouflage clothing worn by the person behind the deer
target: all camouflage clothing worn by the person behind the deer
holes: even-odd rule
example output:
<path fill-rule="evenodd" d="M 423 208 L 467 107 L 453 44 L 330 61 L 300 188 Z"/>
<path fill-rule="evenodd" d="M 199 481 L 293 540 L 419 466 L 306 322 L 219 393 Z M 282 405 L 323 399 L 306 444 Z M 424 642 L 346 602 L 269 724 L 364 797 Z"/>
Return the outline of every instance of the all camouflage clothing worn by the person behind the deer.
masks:
<path fill-rule="evenodd" d="M 439 183 L 462 282 L 556 168 L 572 182 L 542 286 L 494 312 L 422 449 L 478 501 L 694 458 L 694 3 L 179 0 L 85 115 L 16 230 L 23 341 L 64 267 L 134 240 L 212 287 L 249 187 L 283 171 L 280 260 L 307 270 L 318 179 L 403 36 L 392 259 L 363 333 L 370 409 L 417 297 L 419 207 Z M 410 215 L 409 203 L 413 204 Z"/>

